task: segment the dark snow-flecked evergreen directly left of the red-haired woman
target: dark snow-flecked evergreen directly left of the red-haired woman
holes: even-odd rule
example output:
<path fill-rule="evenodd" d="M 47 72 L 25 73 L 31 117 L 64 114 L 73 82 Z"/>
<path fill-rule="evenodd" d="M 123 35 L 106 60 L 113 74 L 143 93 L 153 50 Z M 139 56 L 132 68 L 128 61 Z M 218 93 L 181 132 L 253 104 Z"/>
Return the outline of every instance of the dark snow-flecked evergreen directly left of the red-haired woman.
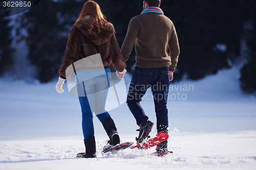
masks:
<path fill-rule="evenodd" d="M 26 12 L 21 21 L 28 33 L 24 37 L 29 47 L 28 59 L 37 67 L 36 77 L 40 82 L 48 82 L 58 74 L 65 54 L 68 36 L 63 33 L 67 28 L 61 24 L 58 10 L 57 2 L 41 1 Z"/>

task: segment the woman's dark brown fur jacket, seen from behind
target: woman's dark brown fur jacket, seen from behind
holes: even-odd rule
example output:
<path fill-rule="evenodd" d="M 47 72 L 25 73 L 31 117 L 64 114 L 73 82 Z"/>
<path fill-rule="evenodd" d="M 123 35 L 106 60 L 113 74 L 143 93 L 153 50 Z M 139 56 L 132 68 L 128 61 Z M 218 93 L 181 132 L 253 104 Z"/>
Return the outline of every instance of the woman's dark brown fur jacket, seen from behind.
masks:
<path fill-rule="evenodd" d="M 111 25 L 112 23 L 108 22 L 108 24 Z M 67 51 L 59 69 L 62 79 L 67 79 L 66 69 L 69 65 L 98 53 L 100 53 L 104 68 L 110 68 L 112 64 L 116 70 L 123 71 L 126 67 L 113 29 L 100 27 L 100 33 L 97 29 L 93 29 L 90 34 L 88 30 L 89 27 L 83 23 L 83 19 L 71 28 Z"/>

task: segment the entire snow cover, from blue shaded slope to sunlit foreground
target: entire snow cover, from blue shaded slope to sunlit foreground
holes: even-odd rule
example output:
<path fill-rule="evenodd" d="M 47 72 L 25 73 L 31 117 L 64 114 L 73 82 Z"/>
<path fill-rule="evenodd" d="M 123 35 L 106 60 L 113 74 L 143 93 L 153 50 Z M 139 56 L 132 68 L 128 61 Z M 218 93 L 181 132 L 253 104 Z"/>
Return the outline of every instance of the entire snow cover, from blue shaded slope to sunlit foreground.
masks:
<path fill-rule="evenodd" d="M 94 117 L 97 158 L 90 159 L 75 158 L 84 152 L 81 111 L 66 83 L 60 94 L 57 78 L 47 84 L 1 78 L 0 169 L 256 169 L 256 99 L 241 91 L 239 76 L 234 66 L 171 84 L 168 150 L 173 154 L 156 157 L 155 148 L 101 154 L 108 137 Z M 130 81 L 125 75 L 125 84 Z M 150 93 L 141 104 L 156 122 Z M 110 114 L 121 141 L 135 142 L 138 127 L 126 104 Z"/>

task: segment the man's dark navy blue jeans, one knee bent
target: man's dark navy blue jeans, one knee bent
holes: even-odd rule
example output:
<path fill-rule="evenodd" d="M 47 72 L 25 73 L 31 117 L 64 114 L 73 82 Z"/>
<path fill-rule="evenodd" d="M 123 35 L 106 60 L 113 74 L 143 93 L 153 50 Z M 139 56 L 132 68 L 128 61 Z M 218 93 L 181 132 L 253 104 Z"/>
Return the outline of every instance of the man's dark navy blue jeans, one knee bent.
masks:
<path fill-rule="evenodd" d="M 137 125 L 140 125 L 143 120 L 148 119 L 140 105 L 140 101 L 146 90 L 151 87 L 157 117 L 157 132 L 168 132 L 167 97 L 169 83 L 168 67 L 135 67 L 134 75 L 127 95 L 127 105 L 133 113 Z"/>

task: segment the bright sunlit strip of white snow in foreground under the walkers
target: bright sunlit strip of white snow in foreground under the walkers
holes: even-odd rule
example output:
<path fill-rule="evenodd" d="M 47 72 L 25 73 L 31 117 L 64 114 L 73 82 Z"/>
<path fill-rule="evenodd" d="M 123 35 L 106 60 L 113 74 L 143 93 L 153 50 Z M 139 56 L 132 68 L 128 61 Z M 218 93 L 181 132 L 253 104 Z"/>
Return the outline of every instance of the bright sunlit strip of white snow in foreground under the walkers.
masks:
<path fill-rule="evenodd" d="M 122 137 L 123 140 L 134 139 L 134 136 Z M 150 169 L 158 166 L 167 169 L 219 169 L 223 166 L 225 168 L 220 169 L 246 169 L 254 166 L 255 169 L 255 137 L 256 131 L 171 134 L 169 150 L 174 154 L 159 158 L 150 155 L 154 149 L 126 149 L 115 155 L 102 155 L 99 148 L 106 138 L 96 135 L 96 159 L 74 158 L 83 150 L 80 136 L 8 140 L 1 141 L 0 169 Z"/>

